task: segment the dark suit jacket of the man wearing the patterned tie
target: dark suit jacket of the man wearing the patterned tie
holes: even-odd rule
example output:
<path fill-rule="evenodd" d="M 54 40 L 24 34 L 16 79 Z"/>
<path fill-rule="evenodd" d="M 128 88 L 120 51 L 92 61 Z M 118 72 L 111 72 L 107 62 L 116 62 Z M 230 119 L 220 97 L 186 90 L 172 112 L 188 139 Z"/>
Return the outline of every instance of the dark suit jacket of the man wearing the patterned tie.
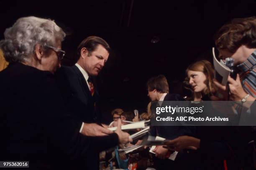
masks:
<path fill-rule="evenodd" d="M 62 66 L 55 74 L 64 103 L 75 120 L 100 124 L 99 94 L 90 93 L 87 82 L 77 66 Z M 94 83 L 95 84 L 95 83 Z M 80 128 L 81 125 L 77 125 Z M 90 170 L 99 168 L 99 153 L 88 155 L 84 162 Z"/>

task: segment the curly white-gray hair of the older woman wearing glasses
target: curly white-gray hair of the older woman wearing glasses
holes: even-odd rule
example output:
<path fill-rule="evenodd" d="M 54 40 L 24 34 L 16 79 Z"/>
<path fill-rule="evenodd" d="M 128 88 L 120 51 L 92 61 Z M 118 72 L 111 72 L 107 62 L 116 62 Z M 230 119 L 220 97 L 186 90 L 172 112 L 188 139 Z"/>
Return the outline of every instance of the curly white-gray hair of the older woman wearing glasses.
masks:
<path fill-rule="evenodd" d="M 49 19 L 37 17 L 19 18 L 4 32 L 5 39 L 0 41 L 0 48 L 8 62 L 30 61 L 35 45 L 54 46 L 56 41 L 63 41 L 66 34 Z M 44 49 L 45 50 L 45 49 Z"/>

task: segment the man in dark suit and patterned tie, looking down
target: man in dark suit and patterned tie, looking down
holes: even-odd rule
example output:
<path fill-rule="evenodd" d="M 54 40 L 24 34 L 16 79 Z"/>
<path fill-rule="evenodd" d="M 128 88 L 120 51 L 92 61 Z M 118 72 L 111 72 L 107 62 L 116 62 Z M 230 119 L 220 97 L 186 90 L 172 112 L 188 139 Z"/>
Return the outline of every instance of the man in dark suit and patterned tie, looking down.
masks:
<path fill-rule="evenodd" d="M 110 47 L 100 37 L 85 38 L 77 48 L 79 59 L 72 67 L 62 66 L 56 72 L 64 103 L 74 119 L 100 124 L 99 94 L 93 76 L 97 76 L 108 60 Z M 77 126 L 80 128 L 80 126 Z M 87 159 L 90 169 L 98 169 L 99 155 Z"/>

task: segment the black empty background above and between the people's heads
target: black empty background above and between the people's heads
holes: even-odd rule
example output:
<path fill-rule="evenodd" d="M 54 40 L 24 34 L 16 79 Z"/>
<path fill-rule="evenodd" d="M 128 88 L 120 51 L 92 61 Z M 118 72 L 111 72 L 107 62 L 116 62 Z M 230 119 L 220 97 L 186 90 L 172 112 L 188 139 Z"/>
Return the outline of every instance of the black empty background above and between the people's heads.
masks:
<path fill-rule="evenodd" d="M 186 67 L 200 59 L 212 62 L 213 35 L 220 26 L 256 15 L 255 0 L 0 0 L 0 5 L 0 39 L 20 17 L 54 19 L 68 34 L 63 65 L 74 64 L 77 45 L 87 36 L 110 44 L 97 77 L 105 122 L 117 107 L 146 111 L 146 81 L 152 76 L 165 75 L 170 92 L 182 93 Z M 151 43 L 154 36 L 160 41 Z"/>

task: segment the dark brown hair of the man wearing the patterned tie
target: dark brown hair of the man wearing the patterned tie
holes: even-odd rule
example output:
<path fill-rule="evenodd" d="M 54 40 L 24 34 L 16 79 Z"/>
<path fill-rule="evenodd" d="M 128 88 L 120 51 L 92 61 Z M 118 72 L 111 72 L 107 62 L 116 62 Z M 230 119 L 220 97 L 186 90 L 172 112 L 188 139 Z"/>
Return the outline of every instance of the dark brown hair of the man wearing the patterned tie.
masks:
<path fill-rule="evenodd" d="M 90 56 L 91 52 L 96 50 L 98 45 L 102 45 L 110 53 L 110 46 L 108 45 L 108 42 L 103 40 L 101 37 L 90 36 L 82 40 L 82 42 L 77 47 L 78 57 L 80 57 L 82 48 L 86 48 L 89 53 L 88 55 Z"/>

